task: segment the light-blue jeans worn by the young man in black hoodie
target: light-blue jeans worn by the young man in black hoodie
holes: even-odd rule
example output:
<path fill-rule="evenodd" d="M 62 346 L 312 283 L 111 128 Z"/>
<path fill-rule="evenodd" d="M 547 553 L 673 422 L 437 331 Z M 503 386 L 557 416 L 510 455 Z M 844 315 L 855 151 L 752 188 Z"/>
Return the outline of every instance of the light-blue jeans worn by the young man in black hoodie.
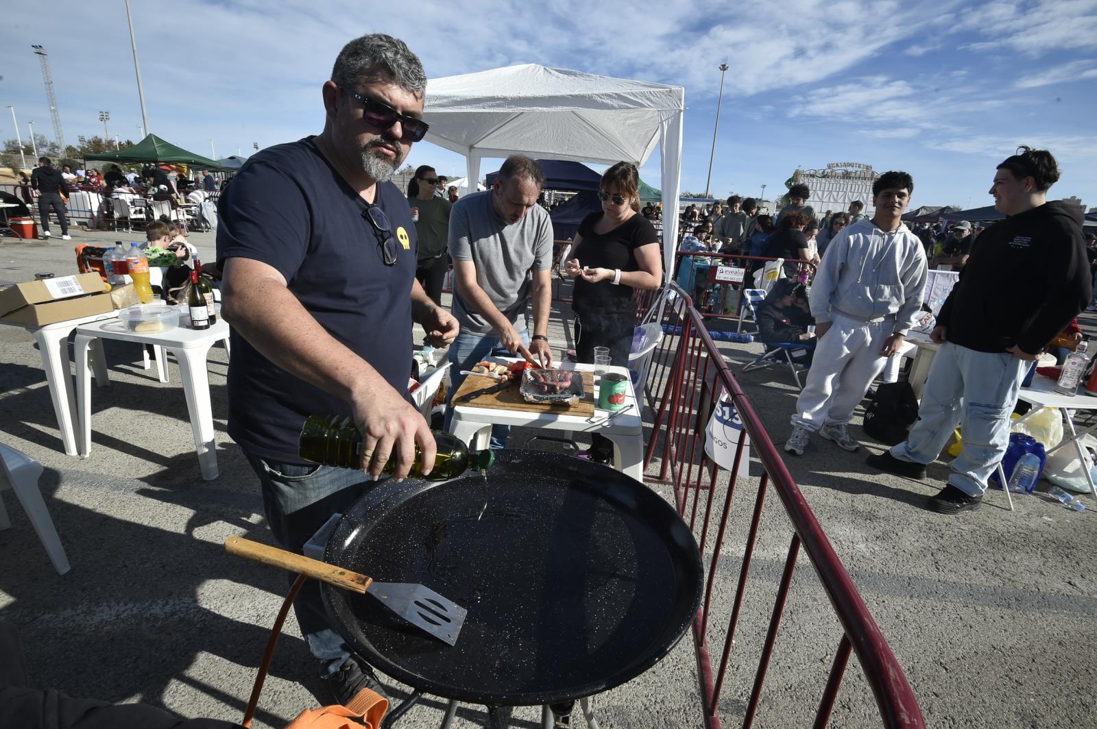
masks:
<path fill-rule="evenodd" d="M 963 451 L 952 462 L 949 483 L 969 496 L 982 494 L 1006 455 L 1009 414 L 1029 364 L 1008 352 L 941 344 L 921 394 L 918 422 L 891 454 L 901 460 L 932 463 L 959 423 Z"/>

